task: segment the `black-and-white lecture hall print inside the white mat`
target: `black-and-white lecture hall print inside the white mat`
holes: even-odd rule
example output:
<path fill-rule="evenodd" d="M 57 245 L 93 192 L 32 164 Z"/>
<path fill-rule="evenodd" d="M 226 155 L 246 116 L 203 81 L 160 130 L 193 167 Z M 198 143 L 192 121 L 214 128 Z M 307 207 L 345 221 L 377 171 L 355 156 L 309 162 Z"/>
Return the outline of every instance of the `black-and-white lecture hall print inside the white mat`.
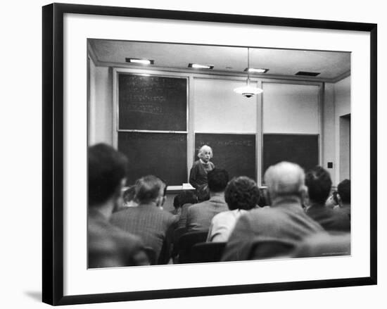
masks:
<path fill-rule="evenodd" d="M 87 76 L 89 268 L 350 256 L 350 52 L 87 39 Z"/>

